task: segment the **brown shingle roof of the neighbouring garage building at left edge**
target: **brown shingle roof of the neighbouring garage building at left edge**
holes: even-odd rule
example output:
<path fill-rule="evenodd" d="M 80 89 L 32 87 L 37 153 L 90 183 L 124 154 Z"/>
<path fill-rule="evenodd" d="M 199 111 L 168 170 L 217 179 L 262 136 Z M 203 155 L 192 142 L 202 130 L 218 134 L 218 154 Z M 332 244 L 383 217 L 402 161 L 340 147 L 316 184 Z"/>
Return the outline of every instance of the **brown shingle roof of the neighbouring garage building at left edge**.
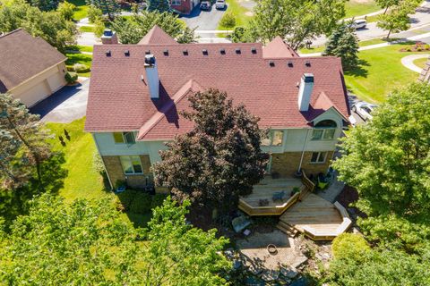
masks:
<path fill-rule="evenodd" d="M 23 29 L 0 37 L 0 92 L 29 80 L 39 72 L 61 63 L 66 57 L 42 38 Z"/>

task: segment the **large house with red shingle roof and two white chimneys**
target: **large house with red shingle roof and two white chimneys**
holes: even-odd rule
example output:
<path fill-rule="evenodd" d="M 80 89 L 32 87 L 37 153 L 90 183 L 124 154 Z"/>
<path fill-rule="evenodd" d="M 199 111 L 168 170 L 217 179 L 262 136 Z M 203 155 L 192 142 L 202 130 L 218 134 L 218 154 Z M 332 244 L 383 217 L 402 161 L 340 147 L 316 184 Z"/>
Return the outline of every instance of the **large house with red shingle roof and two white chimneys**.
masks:
<path fill-rule="evenodd" d="M 154 27 L 140 45 L 94 46 L 85 130 L 112 185 L 150 182 L 165 142 L 193 129 L 179 115 L 187 97 L 205 88 L 226 91 L 270 129 L 267 172 L 327 171 L 350 114 L 339 58 L 301 58 L 281 38 L 177 44 Z"/>

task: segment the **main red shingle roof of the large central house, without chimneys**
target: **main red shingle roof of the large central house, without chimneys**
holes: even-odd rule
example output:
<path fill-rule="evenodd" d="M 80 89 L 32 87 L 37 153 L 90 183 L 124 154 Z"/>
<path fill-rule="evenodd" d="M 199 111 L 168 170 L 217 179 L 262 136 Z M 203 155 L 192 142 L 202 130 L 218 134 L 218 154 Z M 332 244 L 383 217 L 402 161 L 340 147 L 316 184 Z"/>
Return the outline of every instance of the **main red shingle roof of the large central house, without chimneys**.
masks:
<path fill-rule="evenodd" d="M 160 96 L 155 100 L 145 84 L 147 51 L 158 63 Z M 140 130 L 140 139 L 173 139 L 193 127 L 178 115 L 188 108 L 185 98 L 205 88 L 226 91 L 234 103 L 260 117 L 263 128 L 308 127 L 314 108 L 301 113 L 297 105 L 297 83 L 305 72 L 314 73 L 311 102 L 324 92 L 348 118 L 342 68 L 335 57 L 263 58 L 262 45 L 255 43 L 94 46 L 85 130 Z"/>

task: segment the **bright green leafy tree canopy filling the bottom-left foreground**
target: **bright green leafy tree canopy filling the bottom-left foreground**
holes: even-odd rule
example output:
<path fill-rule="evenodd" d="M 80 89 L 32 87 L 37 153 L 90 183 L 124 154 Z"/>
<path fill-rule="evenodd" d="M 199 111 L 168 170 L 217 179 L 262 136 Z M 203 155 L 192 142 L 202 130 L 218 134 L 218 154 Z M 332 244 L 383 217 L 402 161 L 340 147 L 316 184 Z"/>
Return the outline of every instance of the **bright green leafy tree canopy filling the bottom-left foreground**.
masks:
<path fill-rule="evenodd" d="M 44 194 L 30 213 L 0 227 L 2 284 L 224 285 L 228 242 L 185 222 L 186 206 L 167 199 L 149 230 L 125 222 L 109 198 L 65 204 Z M 146 241 L 142 241 L 146 240 Z"/>

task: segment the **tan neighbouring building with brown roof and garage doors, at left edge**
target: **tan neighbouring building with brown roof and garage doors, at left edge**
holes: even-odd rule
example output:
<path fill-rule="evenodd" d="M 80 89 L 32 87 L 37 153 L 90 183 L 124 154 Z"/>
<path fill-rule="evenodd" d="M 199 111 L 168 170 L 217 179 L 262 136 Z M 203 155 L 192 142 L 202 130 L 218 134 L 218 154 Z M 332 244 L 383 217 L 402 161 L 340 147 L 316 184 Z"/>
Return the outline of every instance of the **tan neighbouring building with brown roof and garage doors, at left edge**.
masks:
<path fill-rule="evenodd" d="M 0 36 L 0 93 L 10 92 L 28 107 L 66 84 L 66 57 L 23 29 Z"/>

